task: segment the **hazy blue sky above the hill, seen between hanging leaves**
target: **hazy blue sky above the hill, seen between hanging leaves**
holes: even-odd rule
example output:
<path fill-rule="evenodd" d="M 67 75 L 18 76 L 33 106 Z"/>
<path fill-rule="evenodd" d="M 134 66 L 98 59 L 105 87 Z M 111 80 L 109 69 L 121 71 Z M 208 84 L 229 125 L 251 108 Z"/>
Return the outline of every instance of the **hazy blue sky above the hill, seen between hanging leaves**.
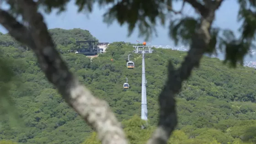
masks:
<path fill-rule="evenodd" d="M 176 3 L 174 5 L 176 9 L 181 7 L 181 3 Z M 222 6 L 216 13 L 216 21 L 214 25 L 222 28 L 230 28 L 237 30 L 239 24 L 237 23 L 237 11 L 238 3 L 236 0 L 225 0 Z M 68 11 L 62 13 L 61 15 L 56 15 L 52 13 L 50 15 L 45 15 L 45 21 L 47 22 L 48 28 L 81 28 L 86 29 L 91 32 L 93 36 L 99 39 L 100 42 L 115 42 L 115 41 L 125 41 L 136 43 L 136 40 L 143 41 L 144 38 L 138 37 L 138 30 L 136 29 L 131 37 L 127 37 L 128 30 L 127 26 L 120 27 L 117 22 L 114 22 L 110 27 L 103 23 L 102 15 L 106 9 L 99 9 L 95 6 L 94 11 L 89 14 L 89 19 L 85 14 L 78 14 L 77 7 L 74 2 L 70 2 L 68 5 Z M 184 9 L 187 15 L 193 16 L 194 10 L 187 5 Z M 168 23 L 165 27 L 168 27 Z M 157 27 L 158 37 L 153 37 L 150 40 L 153 45 L 173 45 L 173 42 L 168 36 L 168 28 L 162 26 Z M 3 27 L 0 27 L 0 32 L 6 33 Z"/>

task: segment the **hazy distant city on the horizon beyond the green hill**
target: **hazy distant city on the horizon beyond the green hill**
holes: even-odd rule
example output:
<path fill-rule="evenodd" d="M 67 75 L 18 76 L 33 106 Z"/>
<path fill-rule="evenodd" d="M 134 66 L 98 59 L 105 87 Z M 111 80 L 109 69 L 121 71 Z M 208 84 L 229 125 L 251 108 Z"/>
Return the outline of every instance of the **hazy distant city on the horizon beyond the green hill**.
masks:
<path fill-rule="evenodd" d="M 155 48 L 170 48 L 170 49 L 173 49 L 173 50 L 179 50 L 179 51 L 185 51 L 185 52 L 189 50 L 189 47 L 185 47 L 185 46 L 181 46 L 181 47 L 174 47 L 174 46 L 170 46 L 170 45 L 166 45 L 166 46 L 152 45 L 152 46 L 155 47 Z M 211 55 L 211 56 L 209 56 L 209 55 L 206 55 L 206 56 L 223 60 L 224 55 L 222 53 L 220 53 L 220 51 L 218 51 L 218 50 L 217 50 L 217 53 L 218 53 L 218 57 L 214 54 Z M 251 50 L 250 53 L 253 57 L 256 57 L 256 50 Z M 244 66 L 256 69 L 256 60 L 250 61 L 249 59 L 245 59 Z"/>

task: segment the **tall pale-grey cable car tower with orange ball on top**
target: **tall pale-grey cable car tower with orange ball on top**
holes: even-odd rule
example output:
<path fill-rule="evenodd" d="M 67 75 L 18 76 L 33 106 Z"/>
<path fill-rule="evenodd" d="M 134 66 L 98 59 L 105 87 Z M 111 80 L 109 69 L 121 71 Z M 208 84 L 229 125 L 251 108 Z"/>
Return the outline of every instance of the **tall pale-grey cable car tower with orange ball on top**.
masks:
<path fill-rule="evenodd" d="M 138 42 L 138 41 L 137 41 Z M 135 50 L 133 53 L 141 53 L 142 54 L 142 79 L 141 79 L 141 119 L 147 121 L 148 120 L 148 107 L 147 107 L 147 91 L 146 91 L 146 75 L 145 75 L 145 53 L 152 53 L 152 47 L 146 45 L 146 42 L 143 43 L 143 46 L 133 46 Z"/>

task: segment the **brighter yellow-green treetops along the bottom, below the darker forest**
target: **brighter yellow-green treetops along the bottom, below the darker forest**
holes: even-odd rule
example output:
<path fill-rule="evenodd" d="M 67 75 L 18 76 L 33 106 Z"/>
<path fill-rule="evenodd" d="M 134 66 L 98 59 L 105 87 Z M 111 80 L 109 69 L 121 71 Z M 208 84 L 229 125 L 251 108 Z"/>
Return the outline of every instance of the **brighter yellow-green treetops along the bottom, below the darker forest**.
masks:
<path fill-rule="evenodd" d="M 131 144 L 145 144 L 153 133 L 154 127 L 149 126 L 147 129 L 141 129 L 142 124 L 145 122 L 137 115 L 130 120 L 123 121 L 124 131 Z M 224 125 L 229 125 L 229 128 Z M 168 144 L 255 144 L 255 128 L 255 120 L 221 121 L 213 128 L 197 128 L 187 125 L 180 130 L 175 130 Z M 97 140 L 97 134 L 93 132 L 83 144 L 101 143 Z"/>

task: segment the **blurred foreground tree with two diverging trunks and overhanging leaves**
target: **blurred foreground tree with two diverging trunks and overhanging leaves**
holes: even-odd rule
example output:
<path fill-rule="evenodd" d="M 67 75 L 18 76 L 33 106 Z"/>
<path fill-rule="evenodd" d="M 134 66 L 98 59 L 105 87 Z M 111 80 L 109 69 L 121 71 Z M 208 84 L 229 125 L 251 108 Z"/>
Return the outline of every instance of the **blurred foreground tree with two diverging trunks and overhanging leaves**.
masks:
<path fill-rule="evenodd" d="M 0 23 L 20 43 L 27 45 L 36 54 L 41 69 L 48 80 L 55 85 L 70 107 L 80 114 L 96 130 L 103 144 L 128 144 L 125 134 L 106 101 L 102 101 L 79 83 L 69 71 L 60 54 L 55 49 L 39 7 L 51 12 L 53 8 L 65 11 L 71 0 L 4 0 L 11 7 L 10 11 L 0 10 Z M 170 36 L 176 43 L 190 45 L 181 67 L 174 69 L 171 62 L 168 67 L 168 80 L 159 95 L 160 117 L 158 128 L 148 144 L 166 144 L 177 124 L 176 101 L 174 96 L 181 90 L 181 84 L 191 75 L 192 69 L 198 67 L 204 53 L 213 53 L 216 48 L 224 49 L 228 62 L 235 67 L 252 47 L 256 30 L 256 0 L 238 0 L 240 4 L 239 21 L 241 35 L 236 38 L 230 30 L 213 27 L 215 12 L 224 0 L 75 0 L 79 11 L 92 11 L 92 5 L 113 5 L 104 18 L 107 23 L 114 19 L 123 25 L 128 23 L 131 34 L 138 26 L 142 36 L 149 37 L 155 32 L 157 18 L 162 24 L 171 13 Z M 183 11 L 174 11 L 172 4 L 182 1 L 191 5 L 196 11 L 196 18 L 183 15 Z M 182 15 L 175 18 L 173 15 Z M 22 16 L 18 22 L 14 16 Z M 169 15 L 170 16 L 170 15 Z"/>

